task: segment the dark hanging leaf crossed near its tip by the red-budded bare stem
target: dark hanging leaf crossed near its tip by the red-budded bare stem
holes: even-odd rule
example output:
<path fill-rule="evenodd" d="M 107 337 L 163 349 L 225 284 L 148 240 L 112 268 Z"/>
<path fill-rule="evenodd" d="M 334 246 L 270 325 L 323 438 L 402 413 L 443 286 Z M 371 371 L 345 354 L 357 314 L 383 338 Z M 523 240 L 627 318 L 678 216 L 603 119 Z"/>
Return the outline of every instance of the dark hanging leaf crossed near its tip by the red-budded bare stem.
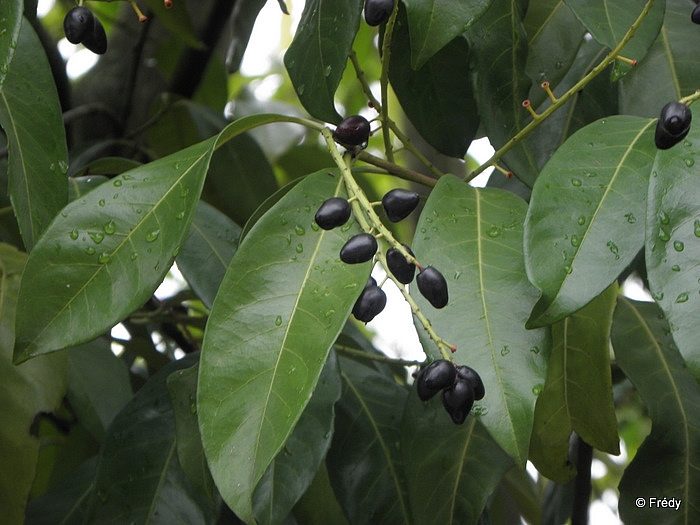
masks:
<path fill-rule="evenodd" d="M 496 149 L 530 120 L 522 107 L 531 84 L 525 73 L 527 37 L 522 20 L 526 7 L 524 0 L 493 0 L 479 23 L 466 33 L 473 57 L 473 89 L 479 115 Z M 539 170 L 527 143 L 517 144 L 503 161 L 516 177 L 532 187 Z"/>

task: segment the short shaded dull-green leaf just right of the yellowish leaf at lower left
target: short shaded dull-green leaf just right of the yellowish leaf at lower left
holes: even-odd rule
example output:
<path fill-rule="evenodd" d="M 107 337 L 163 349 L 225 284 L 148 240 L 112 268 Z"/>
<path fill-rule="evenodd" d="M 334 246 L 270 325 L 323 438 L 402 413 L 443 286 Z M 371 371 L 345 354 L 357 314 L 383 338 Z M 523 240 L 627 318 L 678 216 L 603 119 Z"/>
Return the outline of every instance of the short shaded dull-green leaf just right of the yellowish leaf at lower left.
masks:
<path fill-rule="evenodd" d="M 102 442 L 105 430 L 131 399 L 129 370 L 110 348 L 95 340 L 68 350 L 66 397 L 78 420 Z"/>

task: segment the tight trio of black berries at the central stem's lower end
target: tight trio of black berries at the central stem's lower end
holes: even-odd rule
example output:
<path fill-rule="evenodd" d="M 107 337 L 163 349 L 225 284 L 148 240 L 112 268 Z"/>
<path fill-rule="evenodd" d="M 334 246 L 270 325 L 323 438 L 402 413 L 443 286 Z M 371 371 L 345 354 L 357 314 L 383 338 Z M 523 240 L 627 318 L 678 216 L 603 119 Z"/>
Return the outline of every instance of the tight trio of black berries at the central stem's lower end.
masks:
<path fill-rule="evenodd" d="M 416 392 L 422 401 L 441 390 L 442 405 L 457 425 L 464 423 L 474 401 L 483 399 L 486 394 L 484 383 L 473 368 L 456 367 L 446 359 L 433 361 L 416 376 Z"/>

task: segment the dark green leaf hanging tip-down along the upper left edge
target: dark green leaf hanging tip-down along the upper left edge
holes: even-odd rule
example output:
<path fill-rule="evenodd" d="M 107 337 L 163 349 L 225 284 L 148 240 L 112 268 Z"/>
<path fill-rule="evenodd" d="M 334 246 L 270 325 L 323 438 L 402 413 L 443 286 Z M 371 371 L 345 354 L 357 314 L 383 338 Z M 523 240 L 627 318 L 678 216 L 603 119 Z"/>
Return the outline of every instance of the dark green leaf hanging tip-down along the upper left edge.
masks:
<path fill-rule="evenodd" d="M 31 250 L 68 200 L 68 153 L 58 94 L 41 42 L 26 20 L 19 40 L 11 38 L 17 49 L 0 83 L 0 126 L 8 140 L 8 192 L 24 245 Z"/>

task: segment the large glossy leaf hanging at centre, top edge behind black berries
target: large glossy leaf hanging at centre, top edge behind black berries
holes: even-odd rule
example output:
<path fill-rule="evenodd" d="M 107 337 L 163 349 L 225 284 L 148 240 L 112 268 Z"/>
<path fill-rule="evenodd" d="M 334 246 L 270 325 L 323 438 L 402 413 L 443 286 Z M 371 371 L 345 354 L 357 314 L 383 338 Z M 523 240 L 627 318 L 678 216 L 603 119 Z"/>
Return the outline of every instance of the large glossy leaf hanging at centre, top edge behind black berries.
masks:
<path fill-rule="evenodd" d="M 344 195 L 337 170 L 319 171 L 256 222 L 204 335 L 197 392 L 204 450 L 224 500 L 247 522 L 255 485 L 303 412 L 369 274 L 369 263 L 338 259 L 359 231 L 355 223 L 323 231 L 313 222 L 333 195 Z"/>

